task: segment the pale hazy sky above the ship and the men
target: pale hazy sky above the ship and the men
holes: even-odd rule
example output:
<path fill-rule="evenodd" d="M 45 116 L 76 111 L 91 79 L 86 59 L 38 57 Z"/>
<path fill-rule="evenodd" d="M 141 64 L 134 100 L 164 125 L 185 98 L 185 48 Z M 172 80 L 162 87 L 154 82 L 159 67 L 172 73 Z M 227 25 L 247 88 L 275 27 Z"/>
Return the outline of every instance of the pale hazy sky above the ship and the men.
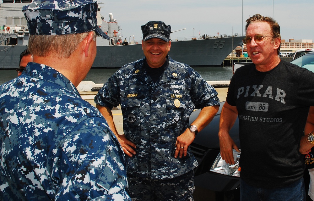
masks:
<path fill-rule="evenodd" d="M 312 39 L 314 41 L 313 0 L 98 0 L 101 14 L 109 21 L 109 13 L 122 30 L 122 40 L 134 35 L 142 40 L 141 25 L 148 21 L 163 21 L 171 25 L 170 35 L 198 37 L 245 33 L 245 20 L 254 14 L 273 17 L 280 25 L 282 39 Z M 243 23 L 242 23 L 243 2 Z M 242 31 L 243 26 L 243 31 Z M 194 28 L 194 30 L 193 30 Z M 193 33 L 194 32 L 194 33 Z M 131 37 L 132 40 L 132 37 Z"/>

